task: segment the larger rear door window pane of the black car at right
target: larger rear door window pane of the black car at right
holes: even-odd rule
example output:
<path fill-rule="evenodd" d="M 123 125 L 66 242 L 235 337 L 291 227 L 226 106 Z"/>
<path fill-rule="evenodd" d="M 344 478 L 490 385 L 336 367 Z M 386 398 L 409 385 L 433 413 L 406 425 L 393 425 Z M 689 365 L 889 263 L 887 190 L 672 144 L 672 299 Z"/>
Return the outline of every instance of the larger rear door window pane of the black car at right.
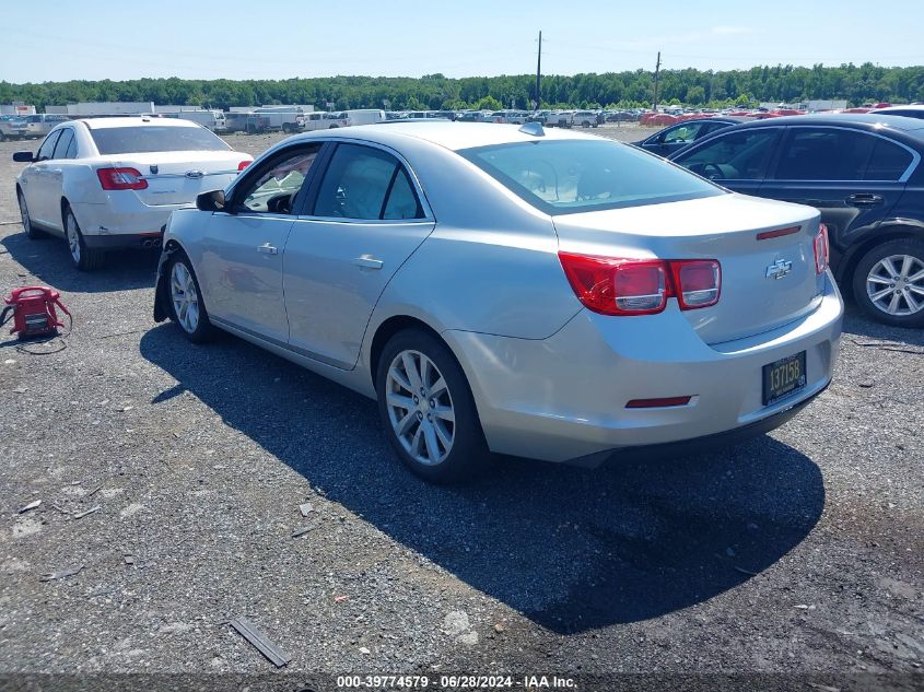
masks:
<path fill-rule="evenodd" d="M 776 166 L 777 180 L 862 180 L 875 137 L 835 128 L 792 128 Z"/>

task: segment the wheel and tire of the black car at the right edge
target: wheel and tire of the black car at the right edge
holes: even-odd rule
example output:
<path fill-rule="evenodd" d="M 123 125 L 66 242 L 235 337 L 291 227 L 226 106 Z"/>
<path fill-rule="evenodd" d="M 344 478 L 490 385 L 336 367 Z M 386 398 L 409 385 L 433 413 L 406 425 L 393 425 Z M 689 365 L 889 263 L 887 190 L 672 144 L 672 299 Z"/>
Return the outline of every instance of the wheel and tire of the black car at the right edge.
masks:
<path fill-rule="evenodd" d="M 900 238 L 870 249 L 856 266 L 853 293 L 873 319 L 897 327 L 924 325 L 924 241 Z"/>

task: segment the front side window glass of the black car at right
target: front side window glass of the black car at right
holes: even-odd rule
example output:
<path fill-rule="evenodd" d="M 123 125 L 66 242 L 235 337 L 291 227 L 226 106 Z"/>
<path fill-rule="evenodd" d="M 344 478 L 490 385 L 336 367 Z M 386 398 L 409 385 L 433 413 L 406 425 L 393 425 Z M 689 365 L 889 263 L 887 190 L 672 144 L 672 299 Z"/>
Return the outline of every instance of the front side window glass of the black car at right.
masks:
<path fill-rule="evenodd" d="M 776 134 L 775 128 L 728 132 L 675 161 L 710 180 L 762 180 Z"/>

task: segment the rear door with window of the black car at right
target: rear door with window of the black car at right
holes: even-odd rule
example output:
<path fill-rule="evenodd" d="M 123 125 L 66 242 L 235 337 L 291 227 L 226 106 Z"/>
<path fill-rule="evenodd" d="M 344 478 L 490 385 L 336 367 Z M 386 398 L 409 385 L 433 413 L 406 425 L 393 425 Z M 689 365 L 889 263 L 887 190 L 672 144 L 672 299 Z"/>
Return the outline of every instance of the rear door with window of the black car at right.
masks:
<path fill-rule="evenodd" d="M 761 197 L 815 207 L 835 248 L 853 230 L 886 216 L 904 191 L 914 155 L 863 130 L 790 126 Z"/>

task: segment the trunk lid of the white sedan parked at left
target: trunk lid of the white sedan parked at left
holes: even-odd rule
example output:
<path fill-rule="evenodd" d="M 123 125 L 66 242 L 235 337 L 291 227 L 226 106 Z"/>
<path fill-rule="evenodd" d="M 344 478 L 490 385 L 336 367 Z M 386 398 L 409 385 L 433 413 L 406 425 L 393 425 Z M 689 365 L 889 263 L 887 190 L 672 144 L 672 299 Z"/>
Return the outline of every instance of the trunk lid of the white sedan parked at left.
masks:
<path fill-rule="evenodd" d="M 149 207 L 159 207 L 192 203 L 201 192 L 224 189 L 237 176 L 238 164 L 252 156 L 235 151 L 167 151 L 100 159 L 106 162 L 101 167 L 112 165 L 141 173 L 148 187 L 131 191 Z"/>

